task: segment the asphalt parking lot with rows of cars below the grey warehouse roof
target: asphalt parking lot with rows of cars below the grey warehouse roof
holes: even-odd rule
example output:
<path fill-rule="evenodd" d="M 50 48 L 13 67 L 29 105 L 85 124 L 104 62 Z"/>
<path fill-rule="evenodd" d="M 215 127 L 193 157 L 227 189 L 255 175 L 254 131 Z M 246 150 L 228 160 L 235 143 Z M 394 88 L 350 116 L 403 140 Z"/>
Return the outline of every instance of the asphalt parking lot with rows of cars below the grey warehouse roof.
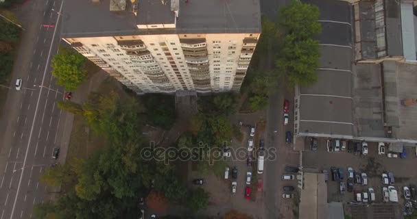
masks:
<path fill-rule="evenodd" d="M 412 171 L 412 167 L 416 166 L 417 158 L 414 148 L 406 148 L 407 156 L 405 159 L 401 158 L 388 158 L 385 155 L 378 155 L 378 143 L 377 142 L 368 142 L 368 155 L 355 155 L 354 153 L 348 153 L 348 151 L 339 151 L 339 152 L 328 152 L 326 149 L 326 140 L 318 139 L 318 151 L 313 152 L 310 150 L 309 144 L 306 144 L 305 152 L 303 152 L 303 167 L 304 168 L 317 168 L 320 172 L 324 169 L 329 171 L 329 181 L 328 181 L 328 202 L 337 201 L 343 203 L 351 203 L 354 200 L 353 192 L 346 192 L 346 194 L 341 195 L 339 192 L 339 181 L 332 181 L 331 179 L 331 170 L 332 166 L 336 168 L 344 168 L 344 181 L 346 183 L 347 179 L 347 168 L 352 167 L 353 170 L 359 172 L 366 172 L 368 175 L 368 185 L 361 185 L 354 183 L 353 190 L 366 191 L 368 188 L 373 188 L 375 191 L 375 201 L 373 202 L 383 205 L 394 206 L 394 208 L 401 209 L 405 203 L 403 196 L 403 186 L 414 184 L 417 180 L 417 172 Z M 385 146 L 385 149 L 388 149 Z M 385 153 L 387 153 L 386 151 Z M 382 194 L 382 179 L 381 175 L 383 172 L 393 172 L 395 183 L 394 186 L 398 191 L 398 204 L 395 203 L 383 203 L 383 194 Z M 385 185 L 386 186 L 386 185 Z M 345 205 L 346 206 L 346 205 Z M 360 206 L 360 205 L 359 205 Z M 359 209 L 358 209 L 359 208 Z M 377 206 L 374 210 L 362 209 L 361 207 L 352 208 L 352 214 L 361 214 L 361 211 L 375 211 L 375 214 L 378 214 Z M 373 209 L 373 207 L 372 207 Z M 383 209 L 383 208 L 381 208 Z M 350 207 L 346 208 L 345 211 L 350 211 Z M 368 213 L 364 214 L 368 215 Z M 357 216 L 354 218 L 361 218 Z M 382 217 L 381 217 L 382 218 Z M 389 217 L 388 217 L 389 218 Z"/>

